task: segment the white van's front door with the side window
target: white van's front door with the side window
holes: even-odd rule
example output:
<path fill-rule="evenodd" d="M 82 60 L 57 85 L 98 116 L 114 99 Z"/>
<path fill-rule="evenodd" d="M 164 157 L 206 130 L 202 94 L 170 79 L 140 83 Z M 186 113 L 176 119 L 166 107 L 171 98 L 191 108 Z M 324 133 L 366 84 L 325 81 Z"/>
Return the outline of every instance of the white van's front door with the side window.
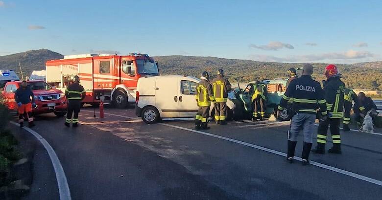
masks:
<path fill-rule="evenodd" d="M 180 79 L 179 83 L 179 115 L 180 117 L 195 117 L 196 112 L 198 111 L 198 106 L 195 101 L 197 83 L 183 79 Z"/>

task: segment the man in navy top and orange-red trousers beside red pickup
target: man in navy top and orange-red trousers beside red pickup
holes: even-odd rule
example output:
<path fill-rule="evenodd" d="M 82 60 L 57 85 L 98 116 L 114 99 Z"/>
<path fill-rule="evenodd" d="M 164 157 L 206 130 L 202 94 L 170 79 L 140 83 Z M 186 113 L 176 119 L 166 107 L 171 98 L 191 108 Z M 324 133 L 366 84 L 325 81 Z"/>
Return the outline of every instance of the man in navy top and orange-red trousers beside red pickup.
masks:
<path fill-rule="evenodd" d="M 30 102 L 31 99 L 32 103 Z M 32 107 L 35 108 L 36 103 L 34 102 L 33 91 L 30 87 L 28 87 L 26 81 L 23 81 L 21 83 L 21 87 L 16 90 L 15 101 L 18 106 L 20 127 L 24 126 L 24 113 L 26 113 L 26 117 L 28 119 L 28 126 L 34 127 L 35 124 L 33 123 Z"/>

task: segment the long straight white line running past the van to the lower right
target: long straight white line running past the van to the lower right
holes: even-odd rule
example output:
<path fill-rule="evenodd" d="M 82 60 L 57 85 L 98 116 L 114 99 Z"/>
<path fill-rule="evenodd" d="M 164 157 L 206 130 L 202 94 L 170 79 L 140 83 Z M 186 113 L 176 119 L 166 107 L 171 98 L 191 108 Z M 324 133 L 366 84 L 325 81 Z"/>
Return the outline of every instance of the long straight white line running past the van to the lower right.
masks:
<path fill-rule="evenodd" d="M 88 111 L 88 112 L 91 112 L 91 111 Z M 105 114 L 112 115 L 112 116 L 123 117 L 123 118 L 128 118 L 128 119 L 139 119 L 137 117 L 129 117 L 129 116 L 123 116 L 123 115 L 119 115 L 119 114 L 111 114 L 111 113 L 106 113 L 106 112 L 105 112 Z M 211 136 L 211 137 L 215 137 L 215 138 L 223 139 L 223 140 L 226 140 L 226 141 L 234 142 L 234 143 L 237 143 L 237 144 L 241 144 L 241 145 L 244 145 L 244 146 L 252 147 L 252 148 L 259 149 L 259 150 L 262 150 L 262 151 L 265 151 L 265 152 L 269 152 L 269 153 L 272 153 L 272 154 L 276 154 L 276 155 L 279 155 L 279 156 L 287 156 L 287 154 L 283 153 L 283 152 L 279 152 L 279 151 L 276 151 L 276 150 L 273 150 L 273 149 L 268 149 L 268 148 L 265 148 L 265 147 L 262 147 L 262 146 L 258 146 L 258 145 L 255 145 L 255 144 L 250 144 L 250 143 L 243 142 L 243 141 L 236 140 L 236 139 L 232 139 L 232 138 L 229 138 L 229 137 L 224 137 L 224 136 L 215 135 L 215 134 L 212 134 L 212 133 L 206 133 L 206 132 L 202 132 L 202 131 L 197 131 L 197 130 L 193 130 L 193 129 L 189 129 L 189 128 L 184 128 L 184 127 L 180 127 L 180 126 L 175 126 L 175 125 L 171 125 L 171 124 L 165 124 L 165 123 L 158 123 L 158 124 L 163 125 L 163 126 L 167 126 L 167 127 L 172 127 L 172 128 L 176 128 L 176 129 L 185 130 L 185 131 L 190 131 L 190 132 L 193 132 L 193 133 L 199 133 L 199 134 L 208 135 L 208 136 Z M 297 157 L 297 156 L 294 156 L 294 157 L 296 158 L 296 160 L 301 161 L 301 157 Z M 336 167 L 332 167 L 330 165 L 322 164 L 322 163 L 319 163 L 319 162 L 315 162 L 315 161 L 312 161 L 312 160 L 310 160 L 310 164 L 314 165 L 314 166 L 317 166 L 317 167 L 320 167 L 320 168 L 323 168 L 323 169 L 327 169 L 327 170 L 339 173 L 339 174 L 343 174 L 343 175 L 346 175 L 346 176 L 349 176 L 349 177 L 357 178 L 357 179 L 360 179 L 360 180 L 364 180 L 366 182 L 370 182 L 370 183 L 382 186 L 382 181 L 381 180 L 365 177 L 365 176 L 362 176 L 362 175 L 359 175 L 359 174 L 356 174 L 356 173 L 353 173 L 353 172 L 342 170 L 342 169 L 339 169 L 339 168 L 336 168 Z"/>

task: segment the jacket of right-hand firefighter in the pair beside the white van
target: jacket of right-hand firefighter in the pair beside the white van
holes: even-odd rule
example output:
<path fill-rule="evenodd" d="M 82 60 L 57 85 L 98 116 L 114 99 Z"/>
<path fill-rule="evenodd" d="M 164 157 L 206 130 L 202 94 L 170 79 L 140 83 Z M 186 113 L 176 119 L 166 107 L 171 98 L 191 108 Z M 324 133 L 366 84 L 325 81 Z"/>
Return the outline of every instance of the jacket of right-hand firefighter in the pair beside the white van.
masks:
<path fill-rule="evenodd" d="M 214 89 L 216 102 L 227 102 L 228 92 L 231 91 L 231 83 L 228 79 L 218 75 L 214 80 L 212 80 L 212 87 Z"/>

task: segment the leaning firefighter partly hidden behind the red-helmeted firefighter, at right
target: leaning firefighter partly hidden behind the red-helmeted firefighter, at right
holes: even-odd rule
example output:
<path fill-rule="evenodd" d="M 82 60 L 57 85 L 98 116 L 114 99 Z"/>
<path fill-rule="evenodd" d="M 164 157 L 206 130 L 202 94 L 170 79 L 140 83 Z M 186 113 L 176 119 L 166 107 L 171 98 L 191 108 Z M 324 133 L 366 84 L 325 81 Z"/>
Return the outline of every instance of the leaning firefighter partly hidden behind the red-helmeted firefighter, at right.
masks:
<path fill-rule="evenodd" d="M 350 124 L 350 111 L 352 110 L 353 101 L 354 105 L 359 105 L 359 110 L 364 113 L 365 108 L 362 106 L 361 101 L 358 100 L 358 96 L 352 89 L 345 89 L 345 95 L 344 95 L 344 115 L 343 115 L 343 131 L 350 131 L 349 124 Z"/>

